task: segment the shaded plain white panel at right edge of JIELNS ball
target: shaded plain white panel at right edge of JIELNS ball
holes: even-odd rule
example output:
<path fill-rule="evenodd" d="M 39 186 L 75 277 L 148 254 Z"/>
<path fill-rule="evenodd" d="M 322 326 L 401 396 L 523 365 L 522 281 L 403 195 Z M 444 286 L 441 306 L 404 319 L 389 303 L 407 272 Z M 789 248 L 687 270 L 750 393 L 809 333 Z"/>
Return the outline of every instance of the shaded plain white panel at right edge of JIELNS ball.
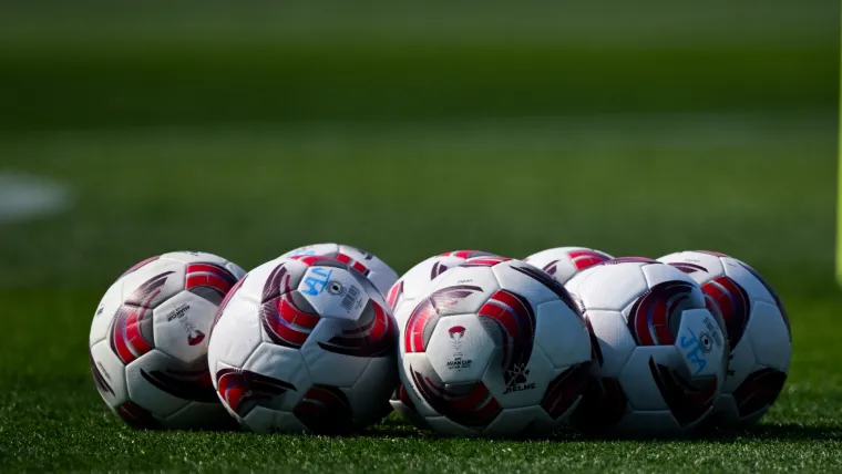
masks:
<path fill-rule="evenodd" d="M 535 346 L 554 368 L 591 360 L 591 337 L 584 319 L 561 300 L 537 307 Z"/>

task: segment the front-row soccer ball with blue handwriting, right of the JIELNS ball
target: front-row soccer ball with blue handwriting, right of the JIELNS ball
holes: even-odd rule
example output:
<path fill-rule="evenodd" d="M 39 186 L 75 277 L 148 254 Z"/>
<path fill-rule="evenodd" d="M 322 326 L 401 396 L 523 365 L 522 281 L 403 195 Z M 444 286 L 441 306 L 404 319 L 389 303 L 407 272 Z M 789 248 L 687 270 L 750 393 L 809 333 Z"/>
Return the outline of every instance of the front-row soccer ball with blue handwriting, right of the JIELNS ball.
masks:
<path fill-rule="evenodd" d="M 585 431 L 667 436 L 713 410 L 728 341 L 701 288 L 680 270 L 616 258 L 566 285 L 593 333 L 593 379 L 574 415 Z"/>

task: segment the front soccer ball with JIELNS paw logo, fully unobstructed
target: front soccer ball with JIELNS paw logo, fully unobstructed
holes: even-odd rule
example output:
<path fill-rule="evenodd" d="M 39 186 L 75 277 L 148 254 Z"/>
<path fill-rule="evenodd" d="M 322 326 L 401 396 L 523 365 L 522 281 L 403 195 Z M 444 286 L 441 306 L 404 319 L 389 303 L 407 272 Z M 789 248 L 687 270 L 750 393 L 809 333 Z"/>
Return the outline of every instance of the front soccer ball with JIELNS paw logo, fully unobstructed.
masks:
<path fill-rule="evenodd" d="M 586 384 L 591 339 L 557 281 L 522 261 L 479 257 L 424 292 L 399 309 L 409 311 L 399 370 L 427 426 L 505 436 L 567 421 Z"/>

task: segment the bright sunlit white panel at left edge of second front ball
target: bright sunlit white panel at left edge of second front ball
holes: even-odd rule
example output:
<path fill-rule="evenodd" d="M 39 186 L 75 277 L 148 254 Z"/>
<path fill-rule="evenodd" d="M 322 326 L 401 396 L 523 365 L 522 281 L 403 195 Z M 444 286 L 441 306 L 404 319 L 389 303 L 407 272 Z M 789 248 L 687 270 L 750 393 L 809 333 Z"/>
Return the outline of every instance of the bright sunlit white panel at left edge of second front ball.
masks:
<path fill-rule="evenodd" d="M 218 362 L 243 368 L 260 344 L 261 333 L 260 307 L 249 301 L 240 288 L 228 301 L 210 334 L 207 348 L 210 369 L 214 370 Z"/>

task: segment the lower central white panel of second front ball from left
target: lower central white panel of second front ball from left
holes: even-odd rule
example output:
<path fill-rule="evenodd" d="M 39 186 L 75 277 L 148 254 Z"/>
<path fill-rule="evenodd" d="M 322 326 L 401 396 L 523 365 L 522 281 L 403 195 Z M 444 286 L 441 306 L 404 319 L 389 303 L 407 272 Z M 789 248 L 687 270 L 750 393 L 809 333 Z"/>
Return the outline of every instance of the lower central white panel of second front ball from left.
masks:
<path fill-rule="evenodd" d="M 270 408 L 274 410 L 291 412 L 314 383 L 297 350 L 270 343 L 261 343 L 248 358 L 243 369 L 291 383 L 295 387 L 295 390 L 287 390 L 271 400 Z"/>

